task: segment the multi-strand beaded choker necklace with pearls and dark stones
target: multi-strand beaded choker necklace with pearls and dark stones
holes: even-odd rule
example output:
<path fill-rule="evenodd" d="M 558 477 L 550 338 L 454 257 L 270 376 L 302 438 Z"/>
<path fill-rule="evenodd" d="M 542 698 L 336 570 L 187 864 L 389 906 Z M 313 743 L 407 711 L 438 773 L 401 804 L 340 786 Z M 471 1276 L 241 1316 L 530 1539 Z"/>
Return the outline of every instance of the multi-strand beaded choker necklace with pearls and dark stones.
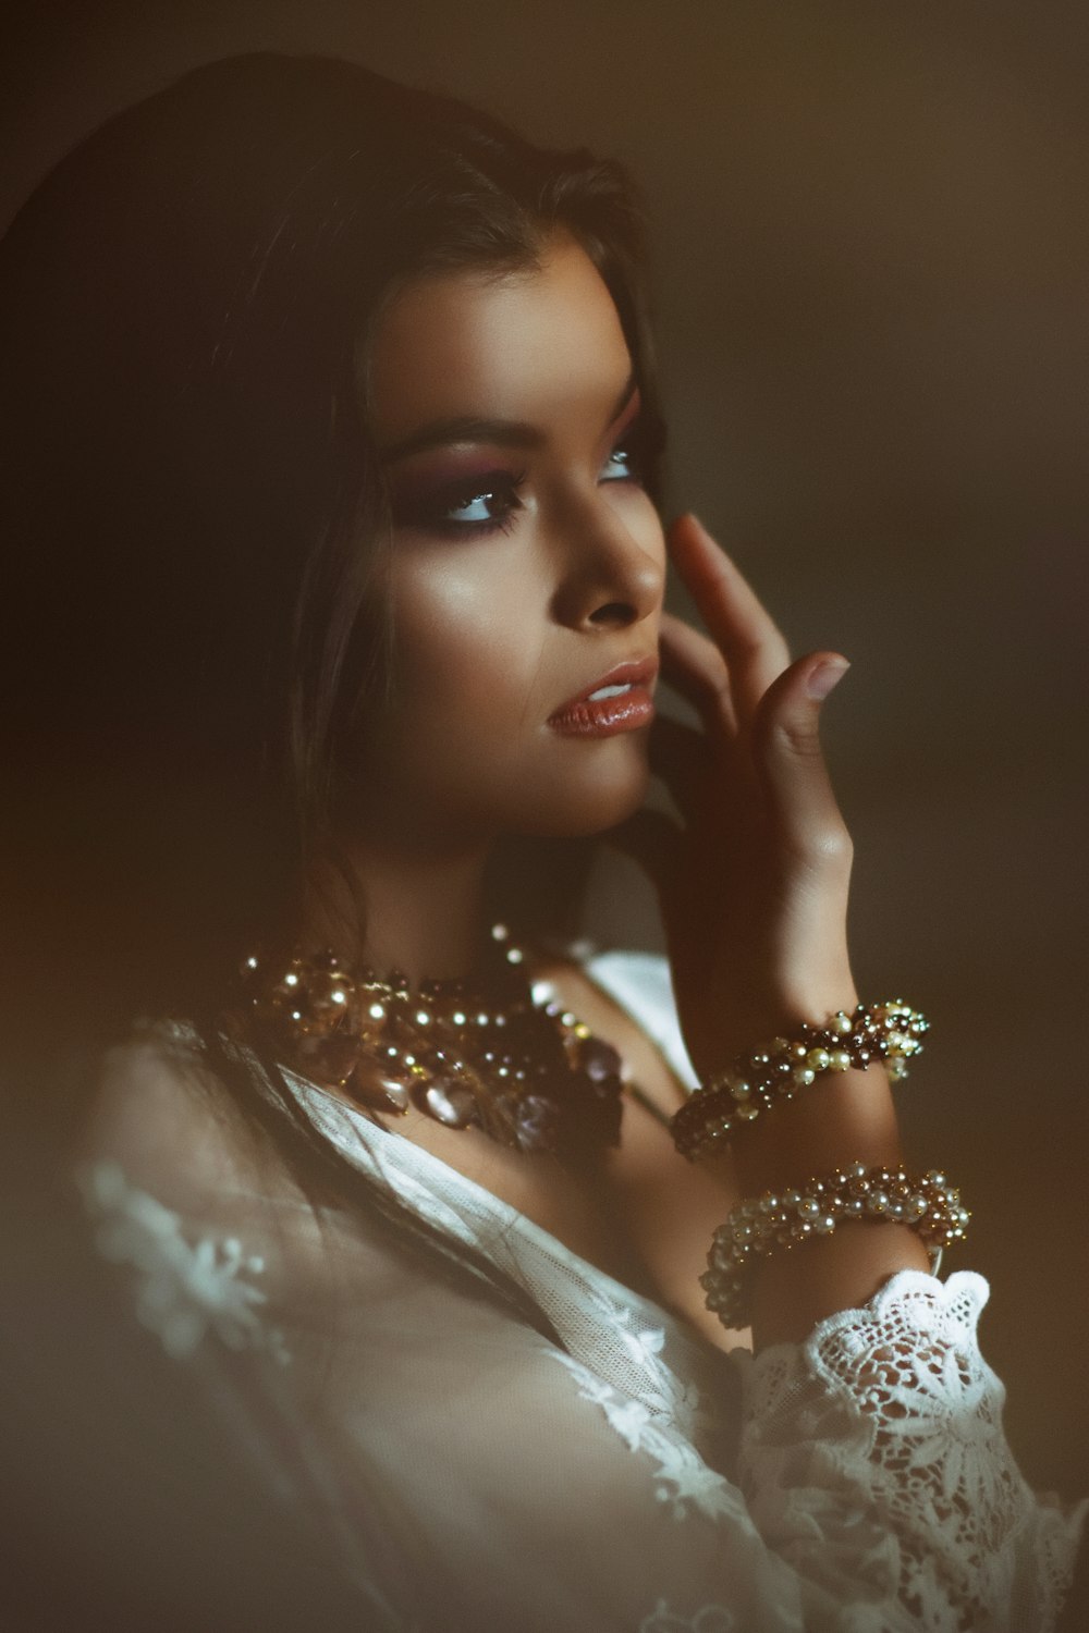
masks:
<path fill-rule="evenodd" d="M 353 970 L 333 952 L 242 967 L 284 1063 L 371 1112 L 411 1106 L 519 1151 L 568 1161 L 620 1143 L 620 1057 L 553 999 L 539 1003 L 522 952 L 491 928 L 478 981 Z"/>

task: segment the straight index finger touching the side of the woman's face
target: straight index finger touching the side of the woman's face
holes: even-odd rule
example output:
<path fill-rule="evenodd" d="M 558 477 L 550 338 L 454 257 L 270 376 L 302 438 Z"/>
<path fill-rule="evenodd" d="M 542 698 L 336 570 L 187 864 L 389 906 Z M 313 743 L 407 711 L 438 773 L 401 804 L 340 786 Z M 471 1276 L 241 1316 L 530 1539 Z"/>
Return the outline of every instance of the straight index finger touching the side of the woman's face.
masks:
<path fill-rule="evenodd" d="M 748 580 L 687 511 L 669 529 L 669 547 L 712 640 L 725 655 L 740 722 L 790 663 L 790 648 Z"/>

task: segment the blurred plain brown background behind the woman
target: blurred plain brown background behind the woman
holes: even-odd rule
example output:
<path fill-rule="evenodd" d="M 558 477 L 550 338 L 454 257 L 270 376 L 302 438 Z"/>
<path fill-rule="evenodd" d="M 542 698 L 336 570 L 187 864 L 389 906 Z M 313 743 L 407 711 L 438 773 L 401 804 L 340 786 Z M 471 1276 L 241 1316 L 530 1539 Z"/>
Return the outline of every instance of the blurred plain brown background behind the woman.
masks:
<path fill-rule="evenodd" d="M 934 1021 L 909 1148 L 976 1210 L 958 1262 L 993 1284 L 985 1342 L 1025 1471 L 1089 1489 L 1089 11 L 129 0 L 5 18 L 5 220 L 103 116 L 260 47 L 354 57 L 630 165 L 676 508 L 798 650 L 854 661 L 828 740 L 859 985 Z M 653 941 L 635 875 L 594 901 L 606 939 Z"/>

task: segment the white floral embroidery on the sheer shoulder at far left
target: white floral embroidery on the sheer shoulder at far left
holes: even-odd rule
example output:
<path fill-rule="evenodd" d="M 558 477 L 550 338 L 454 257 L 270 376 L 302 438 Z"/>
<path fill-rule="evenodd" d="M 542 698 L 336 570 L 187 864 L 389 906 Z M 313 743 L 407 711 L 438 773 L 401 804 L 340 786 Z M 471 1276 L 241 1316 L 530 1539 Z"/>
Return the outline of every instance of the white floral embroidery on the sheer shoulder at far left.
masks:
<path fill-rule="evenodd" d="M 96 1163 L 77 1177 L 98 1221 L 100 1253 L 140 1272 L 137 1319 L 168 1355 L 193 1355 L 212 1331 L 229 1349 L 264 1350 L 281 1365 L 291 1359 L 282 1333 L 258 1315 L 268 1295 L 245 1279 L 264 1269 L 258 1254 L 247 1256 L 235 1236 L 204 1235 L 191 1246 L 180 1217 L 131 1186 L 118 1163 Z"/>

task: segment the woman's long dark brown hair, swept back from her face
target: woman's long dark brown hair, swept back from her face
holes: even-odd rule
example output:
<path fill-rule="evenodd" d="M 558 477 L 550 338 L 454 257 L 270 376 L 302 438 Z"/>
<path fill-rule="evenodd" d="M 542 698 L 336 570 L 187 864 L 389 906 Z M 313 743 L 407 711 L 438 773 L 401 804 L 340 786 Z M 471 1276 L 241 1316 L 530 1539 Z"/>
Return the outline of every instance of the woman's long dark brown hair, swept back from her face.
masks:
<path fill-rule="evenodd" d="M 0 661 L 23 1070 L 60 1083 L 51 1042 L 70 1060 L 134 1014 L 186 1016 L 304 1184 L 358 1199 L 271 1063 L 222 1058 L 222 978 L 327 852 L 340 745 L 387 673 L 371 325 L 405 279 L 532 266 L 557 230 L 612 292 L 653 415 L 617 167 L 358 65 L 198 69 L 16 217 Z"/>

